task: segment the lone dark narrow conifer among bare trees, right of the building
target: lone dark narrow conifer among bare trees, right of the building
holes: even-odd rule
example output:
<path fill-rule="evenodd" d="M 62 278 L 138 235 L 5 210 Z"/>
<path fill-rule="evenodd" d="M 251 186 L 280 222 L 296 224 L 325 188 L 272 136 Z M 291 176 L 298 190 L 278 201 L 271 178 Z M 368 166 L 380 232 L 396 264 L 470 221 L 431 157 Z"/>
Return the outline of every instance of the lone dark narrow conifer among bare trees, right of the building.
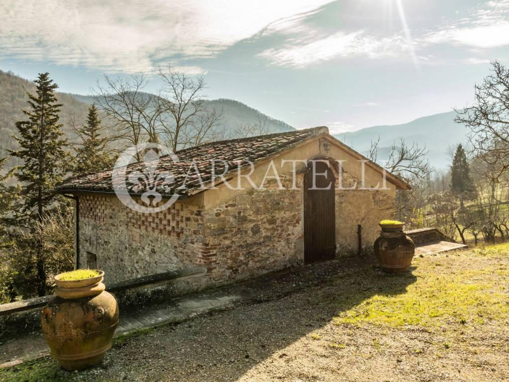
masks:
<path fill-rule="evenodd" d="M 450 171 L 451 194 L 460 199 L 460 207 L 463 208 L 466 200 L 475 198 L 475 186 L 470 176 L 467 156 L 461 144 L 456 149 Z"/>

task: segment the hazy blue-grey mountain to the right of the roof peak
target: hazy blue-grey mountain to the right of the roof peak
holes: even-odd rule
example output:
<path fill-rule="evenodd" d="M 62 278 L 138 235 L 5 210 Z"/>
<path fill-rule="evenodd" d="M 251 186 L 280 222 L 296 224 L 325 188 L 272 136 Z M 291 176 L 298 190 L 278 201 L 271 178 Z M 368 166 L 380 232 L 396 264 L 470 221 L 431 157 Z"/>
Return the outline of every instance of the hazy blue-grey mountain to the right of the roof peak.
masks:
<path fill-rule="evenodd" d="M 454 123 L 455 115 L 454 111 L 434 114 L 401 125 L 367 127 L 337 134 L 335 137 L 363 154 L 369 150 L 371 141 L 376 141 L 380 137 L 378 159 L 386 158 L 392 144 L 398 144 L 400 137 L 403 137 L 407 144 L 417 142 L 419 146 L 426 145 L 432 166 L 445 169 L 450 164 L 446 154 L 447 148 L 467 142 L 468 130 L 465 126 Z"/>

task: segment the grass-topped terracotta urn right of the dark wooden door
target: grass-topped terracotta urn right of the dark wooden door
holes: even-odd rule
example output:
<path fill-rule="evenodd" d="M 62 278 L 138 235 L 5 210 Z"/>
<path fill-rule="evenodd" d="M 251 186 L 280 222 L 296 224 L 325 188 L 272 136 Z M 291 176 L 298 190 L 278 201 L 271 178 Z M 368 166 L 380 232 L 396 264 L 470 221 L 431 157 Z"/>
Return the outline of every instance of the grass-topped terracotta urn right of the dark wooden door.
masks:
<path fill-rule="evenodd" d="M 401 224 L 380 224 L 382 231 L 375 240 L 375 254 L 382 269 L 389 273 L 405 272 L 415 253 L 413 240 Z"/>

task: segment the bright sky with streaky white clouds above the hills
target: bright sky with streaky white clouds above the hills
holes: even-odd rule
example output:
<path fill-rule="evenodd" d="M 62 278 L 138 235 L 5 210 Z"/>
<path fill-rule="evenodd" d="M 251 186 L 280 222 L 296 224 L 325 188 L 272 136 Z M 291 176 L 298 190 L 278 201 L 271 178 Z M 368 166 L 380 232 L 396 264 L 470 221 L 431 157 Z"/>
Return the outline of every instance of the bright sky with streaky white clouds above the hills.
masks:
<path fill-rule="evenodd" d="M 509 64 L 509 0 L 2 0 L 0 69 L 63 92 L 158 66 L 297 128 L 405 123 Z"/>

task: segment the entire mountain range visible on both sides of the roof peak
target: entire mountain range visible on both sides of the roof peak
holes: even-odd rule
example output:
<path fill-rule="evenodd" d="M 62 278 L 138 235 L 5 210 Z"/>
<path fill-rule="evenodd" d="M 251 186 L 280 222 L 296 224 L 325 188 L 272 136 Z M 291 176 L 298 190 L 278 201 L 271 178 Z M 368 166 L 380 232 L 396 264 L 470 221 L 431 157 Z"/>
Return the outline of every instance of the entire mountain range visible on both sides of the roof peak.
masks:
<path fill-rule="evenodd" d="M 26 110 L 27 107 L 27 91 L 35 92 L 32 81 L 16 76 L 12 72 L 0 70 L 0 158 L 8 155 L 8 149 L 16 149 L 16 141 L 12 135 L 17 133 L 15 122 L 24 119 L 22 110 Z M 63 104 L 61 122 L 64 124 L 64 132 L 72 140 L 74 137 L 68 122 L 70 119 L 76 119 L 78 123 L 84 123 L 87 108 L 93 103 L 93 98 L 70 93 L 57 93 L 57 97 Z M 294 129 L 283 121 L 270 118 L 235 100 L 216 99 L 206 100 L 205 103 L 211 109 L 223 111 L 221 124 L 226 130 L 227 137 L 235 138 L 235 130 L 238 126 L 256 124 L 259 120 L 266 121 L 267 133 Z M 418 118 L 404 124 L 373 126 L 336 134 L 335 137 L 363 154 L 370 149 L 371 142 L 377 141 L 380 137 L 378 160 L 387 158 L 392 145 L 398 145 L 402 137 L 408 145 L 416 142 L 419 147 L 426 146 L 429 150 L 428 159 L 431 165 L 437 169 L 445 169 L 449 166 L 447 149 L 467 141 L 465 136 L 467 130 L 453 121 L 455 115 L 456 112 L 450 111 Z M 10 160 L 10 166 L 17 164 L 19 163 L 14 159 Z"/>

